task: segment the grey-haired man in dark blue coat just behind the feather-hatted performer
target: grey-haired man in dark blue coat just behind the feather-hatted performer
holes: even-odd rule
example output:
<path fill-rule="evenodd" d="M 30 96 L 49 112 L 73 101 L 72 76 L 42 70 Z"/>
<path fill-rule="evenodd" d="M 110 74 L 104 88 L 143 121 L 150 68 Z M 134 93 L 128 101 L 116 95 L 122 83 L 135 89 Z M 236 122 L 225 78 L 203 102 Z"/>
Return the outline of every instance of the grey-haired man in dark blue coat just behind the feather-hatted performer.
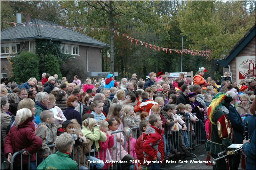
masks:
<path fill-rule="evenodd" d="M 234 143 L 243 143 L 244 140 L 244 124 L 242 122 L 242 118 L 239 113 L 236 111 L 236 93 L 234 91 L 228 91 L 227 94 L 232 97 L 232 102 L 230 102 L 230 106 L 228 108 L 228 119 L 233 127 L 234 132 Z M 240 151 L 237 151 L 238 154 L 234 158 L 233 168 L 238 169 L 240 163 Z"/>

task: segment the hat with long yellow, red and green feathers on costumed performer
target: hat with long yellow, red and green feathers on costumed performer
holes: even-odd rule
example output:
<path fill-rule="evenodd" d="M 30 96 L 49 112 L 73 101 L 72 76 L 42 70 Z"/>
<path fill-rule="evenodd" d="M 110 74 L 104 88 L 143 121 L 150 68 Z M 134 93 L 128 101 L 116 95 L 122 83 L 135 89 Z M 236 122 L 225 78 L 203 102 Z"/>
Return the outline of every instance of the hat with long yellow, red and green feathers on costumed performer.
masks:
<path fill-rule="evenodd" d="M 212 121 L 213 113 L 223 106 L 226 102 L 231 102 L 233 99 L 227 93 L 219 93 L 213 97 L 211 104 L 208 107 L 207 115 L 208 119 L 213 125 L 216 125 Z"/>

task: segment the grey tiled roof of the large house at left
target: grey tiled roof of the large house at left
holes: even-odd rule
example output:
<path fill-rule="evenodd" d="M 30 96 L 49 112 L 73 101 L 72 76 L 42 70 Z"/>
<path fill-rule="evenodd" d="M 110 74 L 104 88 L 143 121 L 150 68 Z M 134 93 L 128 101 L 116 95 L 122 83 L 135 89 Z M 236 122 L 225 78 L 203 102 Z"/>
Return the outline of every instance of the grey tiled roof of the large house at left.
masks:
<path fill-rule="evenodd" d="M 102 41 L 80 34 L 55 22 L 32 19 L 30 24 L 33 25 L 25 25 L 24 27 L 22 24 L 20 24 L 16 27 L 2 30 L 1 41 L 19 39 L 52 39 L 56 41 L 68 41 L 74 43 L 84 43 L 95 46 L 109 47 L 108 44 Z M 34 24 L 37 24 L 38 27 Z M 43 27 L 41 27 L 41 25 L 43 25 Z M 56 28 L 52 26 L 56 26 Z"/>

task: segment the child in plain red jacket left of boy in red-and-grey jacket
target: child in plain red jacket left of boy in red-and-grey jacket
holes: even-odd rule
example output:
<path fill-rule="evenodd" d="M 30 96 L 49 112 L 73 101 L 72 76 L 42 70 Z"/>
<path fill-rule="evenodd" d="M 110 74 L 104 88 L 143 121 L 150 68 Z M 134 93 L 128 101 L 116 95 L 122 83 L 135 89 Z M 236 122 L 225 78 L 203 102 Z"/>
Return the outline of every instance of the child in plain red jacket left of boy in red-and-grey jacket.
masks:
<path fill-rule="evenodd" d="M 141 169 L 142 170 L 145 170 L 146 169 L 146 166 L 145 165 L 142 165 L 143 162 L 144 162 L 144 154 L 143 154 L 143 140 L 142 140 L 142 137 L 143 137 L 143 134 L 145 134 L 147 128 L 150 126 L 150 124 L 148 123 L 148 120 L 141 120 L 140 121 L 140 132 L 141 132 L 141 135 L 140 137 L 136 140 L 136 143 L 135 143 L 135 152 L 136 152 L 136 155 L 138 157 L 138 161 L 140 163 L 140 166 L 141 166 Z"/>

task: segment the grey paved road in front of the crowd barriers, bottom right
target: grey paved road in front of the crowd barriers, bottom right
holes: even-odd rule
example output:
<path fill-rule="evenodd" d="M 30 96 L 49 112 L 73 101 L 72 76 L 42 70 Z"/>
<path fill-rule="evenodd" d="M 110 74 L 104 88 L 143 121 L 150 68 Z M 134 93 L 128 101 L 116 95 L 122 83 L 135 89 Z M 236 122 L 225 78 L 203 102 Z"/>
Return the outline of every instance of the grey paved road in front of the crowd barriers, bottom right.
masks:
<path fill-rule="evenodd" d="M 192 151 L 192 153 L 194 153 L 198 159 L 200 161 L 205 161 L 206 160 L 206 156 L 207 156 L 207 152 L 204 150 L 204 144 L 200 145 L 198 148 L 195 148 L 195 151 Z M 174 163 L 165 163 L 162 164 L 161 169 L 212 169 L 212 166 L 207 166 L 206 164 L 202 164 L 202 163 L 190 163 L 190 160 L 194 160 L 197 161 L 196 158 L 178 158 L 178 159 L 170 159 L 175 161 Z M 184 161 L 183 163 L 179 163 L 180 161 Z M 185 162 L 187 161 L 187 162 Z M 241 161 L 240 161 L 240 165 L 239 165 L 239 170 L 242 170 L 241 168 Z"/>

